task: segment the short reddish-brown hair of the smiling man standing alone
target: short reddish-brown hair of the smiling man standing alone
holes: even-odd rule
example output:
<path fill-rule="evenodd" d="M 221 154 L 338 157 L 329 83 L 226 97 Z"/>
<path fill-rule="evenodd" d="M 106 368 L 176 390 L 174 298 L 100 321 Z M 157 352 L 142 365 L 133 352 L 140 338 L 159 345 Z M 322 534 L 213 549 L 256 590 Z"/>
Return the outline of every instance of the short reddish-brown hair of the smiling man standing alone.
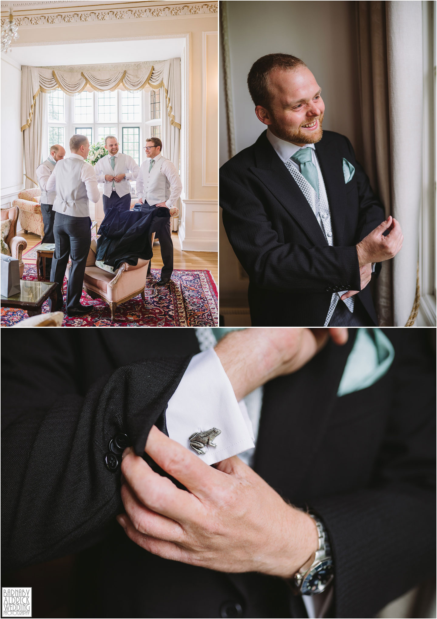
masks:
<path fill-rule="evenodd" d="M 290 54 L 267 54 L 258 58 L 252 65 L 248 75 L 248 87 L 250 96 L 255 105 L 269 108 L 269 74 L 275 69 L 293 71 L 297 67 L 306 67 L 300 58 Z"/>

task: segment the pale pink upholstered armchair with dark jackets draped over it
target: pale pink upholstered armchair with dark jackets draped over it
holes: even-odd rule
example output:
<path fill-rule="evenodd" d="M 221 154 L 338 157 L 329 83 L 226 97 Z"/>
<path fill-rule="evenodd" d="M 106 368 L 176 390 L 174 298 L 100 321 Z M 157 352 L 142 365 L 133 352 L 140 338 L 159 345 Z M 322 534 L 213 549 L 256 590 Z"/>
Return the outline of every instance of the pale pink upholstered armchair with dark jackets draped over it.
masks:
<path fill-rule="evenodd" d="M 155 234 L 152 235 L 152 243 Z M 92 299 L 103 299 L 111 308 L 111 320 L 114 319 L 118 305 L 136 297 L 141 293 L 145 301 L 144 288 L 147 280 L 149 260 L 138 259 L 134 266 L 123 262 L 116 273 L 100 269 L 95 264 L 97 244 L 93 239 L 88 254 L 87 266 L 84 275 L 84 290 Z M 71 264 L 67 266 L 67 279 L 70 275 Z"/>

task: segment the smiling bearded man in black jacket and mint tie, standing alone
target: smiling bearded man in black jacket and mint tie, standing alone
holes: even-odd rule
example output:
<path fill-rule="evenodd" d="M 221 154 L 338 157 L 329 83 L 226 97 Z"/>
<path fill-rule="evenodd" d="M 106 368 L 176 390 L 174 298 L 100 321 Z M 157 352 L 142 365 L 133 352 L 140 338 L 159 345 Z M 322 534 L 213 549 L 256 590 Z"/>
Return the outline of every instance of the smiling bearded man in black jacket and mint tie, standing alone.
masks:
<path fill-rule="evenodd" d="M 402 248 L 347 137 L 322 132 L 306 64 L 268 54 L 251 67 L 255 144 L 220 168 L 220 206 L 249 275 L 253 326 L 373 326 L 371 275 Z"/>

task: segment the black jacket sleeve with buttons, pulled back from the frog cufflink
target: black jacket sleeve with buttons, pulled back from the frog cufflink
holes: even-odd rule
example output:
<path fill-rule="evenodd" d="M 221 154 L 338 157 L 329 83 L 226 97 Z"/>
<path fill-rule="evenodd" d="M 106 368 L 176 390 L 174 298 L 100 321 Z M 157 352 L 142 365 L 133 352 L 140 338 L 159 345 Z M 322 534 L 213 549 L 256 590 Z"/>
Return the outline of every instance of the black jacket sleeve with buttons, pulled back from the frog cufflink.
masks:
<path fill-rule="evenodd" d="M 2 347 L 2 560 L 11 569 L 103 535 L 123 511 L 119 470 L 105 466 L 108 444 L 126 433 L 144 452 L 151 426 L 165 428 L 168 400 L 192 356 L 116 368 L 104 351 L 80 350 L 73 335 L 32 331 L 25 350 L 19 342 Z M 82 392 L 85 355 L 93 353 L 105 376 Z"/>

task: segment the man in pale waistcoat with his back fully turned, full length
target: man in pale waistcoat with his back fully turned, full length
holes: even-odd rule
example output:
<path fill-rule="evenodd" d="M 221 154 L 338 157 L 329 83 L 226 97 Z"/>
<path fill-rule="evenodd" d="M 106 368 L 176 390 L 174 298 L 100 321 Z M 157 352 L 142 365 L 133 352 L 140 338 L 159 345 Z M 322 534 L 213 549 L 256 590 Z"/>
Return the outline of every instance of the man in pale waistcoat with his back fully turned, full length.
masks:
<path fill-rule="evenodd" d="M 94 168 L 85 162 L 90 150 L 88 138 L 80 134 L 72 136 L 69 146 L 71 155 L 56 163 L 46 184 L 47 191 L 56 189 L 50 281 L 58 283 L 58 303 L 56 308 L 51 307 L 51 311 L 61 309 L 63 305 L 64 275 L 70 256 L 66 310 L 69 316 L 83 316 L 93 309 L 92 305 L 80 305 L 91 245 L 89 200 L 98 202 L 100 193 Z"/>

